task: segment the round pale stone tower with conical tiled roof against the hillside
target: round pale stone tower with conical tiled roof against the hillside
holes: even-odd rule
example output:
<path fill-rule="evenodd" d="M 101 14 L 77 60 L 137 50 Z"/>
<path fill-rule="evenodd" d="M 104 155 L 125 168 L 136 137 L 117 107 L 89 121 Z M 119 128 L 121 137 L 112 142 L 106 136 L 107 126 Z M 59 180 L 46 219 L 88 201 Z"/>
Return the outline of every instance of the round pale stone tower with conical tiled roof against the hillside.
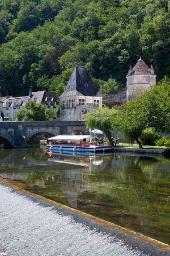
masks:
<path fill-rule="evenodd" d="M 126 79 L 127 102 L 138 97 L 141 92 L 144 93 L 150 90 L 151 84 L 156 84 L 153 66 L 151 65 L 151 68 L 149 68 L 141 57 L 133 69 L 130 66 Z"/>

